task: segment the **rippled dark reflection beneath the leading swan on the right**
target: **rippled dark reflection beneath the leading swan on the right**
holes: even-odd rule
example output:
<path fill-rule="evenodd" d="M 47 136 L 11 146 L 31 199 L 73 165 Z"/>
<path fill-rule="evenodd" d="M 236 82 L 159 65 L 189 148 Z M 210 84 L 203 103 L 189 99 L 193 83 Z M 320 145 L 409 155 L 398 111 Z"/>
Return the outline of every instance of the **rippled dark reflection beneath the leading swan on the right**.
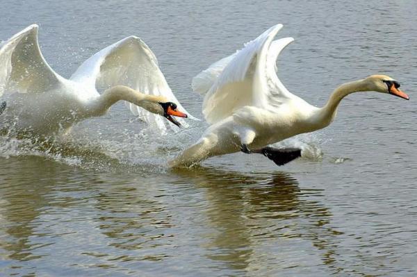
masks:
<path fill-rule="evenodd" d="M 203 167 L 175 172 L 204 189 L 209 238 L 204 248 L 222 269 L 285 272 L 300 265 L 293 255 L 297 249 L 311 252 L 309 262 L 334 262 L 332 237 L 341 233 L 327 226 L 332 213 L 315 200 L 321 190 L 301 189 L 286 172 L 242 174 Z"/>

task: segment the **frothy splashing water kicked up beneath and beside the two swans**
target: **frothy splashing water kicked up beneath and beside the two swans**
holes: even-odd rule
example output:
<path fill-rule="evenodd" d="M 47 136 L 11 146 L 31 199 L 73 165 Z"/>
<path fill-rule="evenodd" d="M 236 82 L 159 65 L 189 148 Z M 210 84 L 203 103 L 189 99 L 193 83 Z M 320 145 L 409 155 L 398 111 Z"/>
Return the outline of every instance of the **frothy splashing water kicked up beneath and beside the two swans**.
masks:
<path fill-rule="evenodd" d="M 40 156 L 83 169 L 158 173 L 167 171 L 167 161 L 197 141 L 204 128 L 204 124 L 196 123 L 162 135 L 152 126 L 113 130 L 103 124 L 92 129 L 89 124 L 46 140 L 8 134 L 0 136 L 0 157 Z M 275 147 L 299 148 L 302 159 L 321 161 L 321 143 L 320 135 L 307 133 L 278 142 Z"/>

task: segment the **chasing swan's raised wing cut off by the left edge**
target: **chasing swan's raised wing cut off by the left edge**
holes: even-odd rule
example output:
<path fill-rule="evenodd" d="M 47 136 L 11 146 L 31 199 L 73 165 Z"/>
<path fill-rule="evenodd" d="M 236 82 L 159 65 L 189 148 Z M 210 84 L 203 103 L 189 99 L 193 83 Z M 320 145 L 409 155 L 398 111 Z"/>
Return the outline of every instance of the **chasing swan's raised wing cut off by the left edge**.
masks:
<path fill-rule="evenodd" d="M 28 26 L 0 45 L 0 96 L 5 92 L 46 92 L 62 80 L 40 53 L 38 25 Z"/>

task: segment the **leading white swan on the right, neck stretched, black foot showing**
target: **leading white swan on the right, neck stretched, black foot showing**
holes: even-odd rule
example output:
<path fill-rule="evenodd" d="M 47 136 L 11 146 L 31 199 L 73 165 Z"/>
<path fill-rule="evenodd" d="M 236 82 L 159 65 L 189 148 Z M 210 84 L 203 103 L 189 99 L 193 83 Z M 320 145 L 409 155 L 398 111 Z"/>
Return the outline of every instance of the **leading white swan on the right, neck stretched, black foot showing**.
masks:
<path fill-rule="evenodd" d="M 334 90 L 322 108 L 291 94 L 279 81 L 276 60 L 292 37 L 274 40 L 281 24 L 272 26 L 233 55 L 193 78 L 193 90 L 204 96 L 203 114 L 211 124 L 202 137 L 169 162 L 188 167 L 213 156 L 243 151 L 261 153 L 277 165 L 299 157 L 300 149 L 273 149 L 274 144 L 332 123 L 341 100 L 353 92 L 382 92 L 409 100 L 400 83 L 372 75 Z"/>

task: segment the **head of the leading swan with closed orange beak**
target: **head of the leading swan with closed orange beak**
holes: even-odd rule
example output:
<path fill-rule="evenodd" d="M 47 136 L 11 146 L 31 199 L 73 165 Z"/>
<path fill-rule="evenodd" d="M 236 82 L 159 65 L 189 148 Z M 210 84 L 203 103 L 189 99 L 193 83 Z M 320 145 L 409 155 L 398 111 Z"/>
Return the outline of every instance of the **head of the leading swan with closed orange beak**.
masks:
<path fill-rule="evenodd" d="M 398 96 L 402 99 L 409 100 L 409 96 L 402 92 L 399 87 L 400 83 L 395 81 L 390 76 L 386 75 L 371 75 L 364 80 L 369 88 L 375 92 L 389 93 Z"/>

